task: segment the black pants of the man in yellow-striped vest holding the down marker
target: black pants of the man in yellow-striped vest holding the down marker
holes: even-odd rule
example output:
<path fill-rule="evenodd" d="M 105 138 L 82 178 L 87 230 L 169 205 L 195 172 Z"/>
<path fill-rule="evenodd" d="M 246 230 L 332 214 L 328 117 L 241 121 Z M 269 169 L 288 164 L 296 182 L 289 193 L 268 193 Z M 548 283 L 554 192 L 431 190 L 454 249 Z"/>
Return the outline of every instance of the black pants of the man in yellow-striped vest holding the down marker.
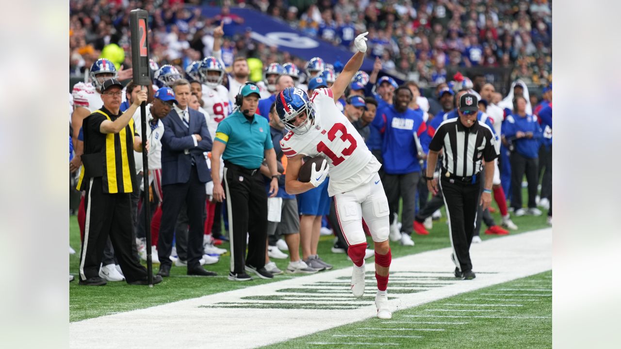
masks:
<path fill-rule="evenodd" d="M 147 279 L 147 269 L 134 258 L 134 222 L 131 194 L 106 194 L 101 177 L 89 179 L 84 196 L 84 241 L 79 261 L 79 278 L 99 277 L 99 265 L 108 237 L 114 247 L 125 280 Z"/>

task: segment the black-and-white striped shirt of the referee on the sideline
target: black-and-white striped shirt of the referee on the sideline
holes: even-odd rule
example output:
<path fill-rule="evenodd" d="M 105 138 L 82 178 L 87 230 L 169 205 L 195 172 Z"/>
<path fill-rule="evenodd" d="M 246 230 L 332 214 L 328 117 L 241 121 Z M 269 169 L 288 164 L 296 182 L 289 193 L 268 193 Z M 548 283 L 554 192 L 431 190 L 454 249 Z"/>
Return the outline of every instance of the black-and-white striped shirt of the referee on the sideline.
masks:
<path fill-rule="evenodd" d="M 453 176 L 469 177 L 481 171 L 482 159 L 490 162 L 498 156 L 495 142 L 492 130 L 483 122 L 477 121 L 468 128 L 457 117 L 438 126 L 429 150 L 444 150 L 443 173 L 448 171 Z"/>

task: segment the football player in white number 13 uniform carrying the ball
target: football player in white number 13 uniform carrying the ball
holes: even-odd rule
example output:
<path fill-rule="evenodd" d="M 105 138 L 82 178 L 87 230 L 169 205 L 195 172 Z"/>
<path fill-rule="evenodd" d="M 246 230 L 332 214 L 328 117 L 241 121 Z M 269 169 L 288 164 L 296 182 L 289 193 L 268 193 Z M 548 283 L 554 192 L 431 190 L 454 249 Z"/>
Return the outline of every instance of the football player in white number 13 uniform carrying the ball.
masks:
<path fill-rule="evenodd" d="M 347 62 L 332 88 L 315 89 L 310 99 L 299 88 L 286 88 L 276 96 L 276 112 L 289 129 L 281 140 L 283 152 L 288 157 L 287 193 L 299 194 L 316 188 L 330 173 L 328 193 L 334 196 L 338 222 L 349 245 L 347 253 L 354 263 L 351 291 L 356 297 L 363 296 L 365 292 L 367 243 L 362 228 L 364 217 L 375 243 L 377 316 L 379 319 L 390 319 L 392 312 L 386 294 L 391 263 L 389 210 L 378 174 L 381 164 L 335 104 L 362 65 L 367 34 L 360 34 L 354 40 L 358 51 Z M 304 156 L 325 158 L 319 171 L 312 169 L 309 183 L 297 179 Z"/>

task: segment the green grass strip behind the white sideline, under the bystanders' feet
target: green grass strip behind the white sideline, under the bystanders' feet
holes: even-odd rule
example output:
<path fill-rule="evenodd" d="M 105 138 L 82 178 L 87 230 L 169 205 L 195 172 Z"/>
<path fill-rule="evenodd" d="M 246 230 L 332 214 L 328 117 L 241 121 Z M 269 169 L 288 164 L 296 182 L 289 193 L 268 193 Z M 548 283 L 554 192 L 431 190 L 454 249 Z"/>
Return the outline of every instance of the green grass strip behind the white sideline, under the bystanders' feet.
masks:
<path fill-rule="evenodd" d="M 493 214 L 496 222 L 500 222 L 500 215 Z M 514 217 L 515 224 L 520 230 L 514 233 L 526 232 L 529 230 L 541 229 L 547 227 L 545 216 L 541 217 Z M 484 231 L 484 229 L 483 229 Z M 484 235 L 481 232 L 481 238 L 497 238 L 493 235 Z M 414 234 L 412 239 L 416 243 L 414 247 L 402 247 L 399 243 L 391 243 L 393 258 L 410 255 L 414 253 L 425 252 L 428 250 L 437 250 L 438 248 L 450 247 L 448 238 L 448 226 L 446 225 L 446 212 L 443 211 L 442 219 L 435 221 L 433 230 L 427 236 Z M 344 254 L 334 254 L 330 252 L 333 244 L 332 237 L 320 238 L 318 252 L 319 255 L 327 263 L 334 265 L 334 268 L 346 268 L 351 266 L 351 262 L 347 260 Z M 372 246 L 371 239 L 368 239 L 369 245 Z M 117 312 L 125 312 L 135 309 L 144 309 L 147 307 L 157 306 L 169 302 L 181 301 L 183 299 L 195 298 L 214 294 L 218 292 L 232 291 L 234 289 L 245 288 L 263 283 L 270 283 L 286 278 L 294 278 L 298 276 L 279 275 L 273 280 L 264 280 L 255 278 L 253 281 L 229 281 L 227 275 L 229 273 L 229 256 L 222 256 L 219 263 L 206 266 L 207 270 L 216 271 L 219 276 L 214 278 L 201 278 L 186 275 L 185 267 L 176 267 L 173 265 L 170 278 L 165 278 L 160 284 L 153 288 L 148 286 L 130 286 L 125 282 L 108 283 L 106 286 L 78 286 L 78 265 L 79 265 L 79 229 L 75 216 L 70 217 L 70 243 L 76 252 L 75 255 L 69 256 L 69 272 L 76 277 L 76 281 L 70 283 L 70 321 L 79 321 L 99 317 L 102 315 L 115 314 Z M 222 248 L 229 248 L 228 243 L 224 243 Z M 228 253 L 227 253 L 228 254 Z M 448 256 L 446 258 L 449 258 Z M 289 260 L 274 260 L 279 268 L 284 270 Z M 158 271 L 159 266 L 153 266 L 153 273 Z"/>

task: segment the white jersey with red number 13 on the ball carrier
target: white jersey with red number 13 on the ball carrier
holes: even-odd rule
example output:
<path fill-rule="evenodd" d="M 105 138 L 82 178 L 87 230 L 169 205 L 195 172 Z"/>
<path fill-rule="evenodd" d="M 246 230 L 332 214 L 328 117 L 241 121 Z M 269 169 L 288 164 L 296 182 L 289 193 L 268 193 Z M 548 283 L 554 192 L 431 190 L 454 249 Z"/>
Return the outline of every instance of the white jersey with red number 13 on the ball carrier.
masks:
<path fill-rule="evenodd" d="M 381 164 L 365 140 L 338 110 L 329 88 L 315 89 L 311 96 L 315 123 L 305 134 L 289 131 L 280 142 L 284 155 L 322 156 L 328 160 L 328 194 L 345 193 L 368 183 Z"/>

